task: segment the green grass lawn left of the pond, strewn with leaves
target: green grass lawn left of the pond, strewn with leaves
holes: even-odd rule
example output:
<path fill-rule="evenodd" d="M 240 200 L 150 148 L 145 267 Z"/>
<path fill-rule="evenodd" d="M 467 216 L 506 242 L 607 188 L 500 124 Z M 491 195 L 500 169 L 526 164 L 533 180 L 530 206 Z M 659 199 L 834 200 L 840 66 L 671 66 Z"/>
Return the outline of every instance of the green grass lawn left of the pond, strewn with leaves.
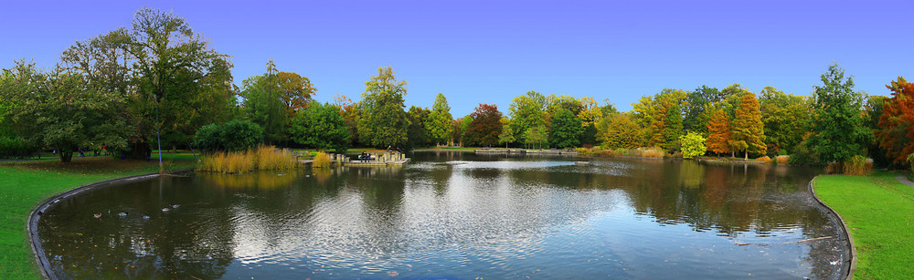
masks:
<path fill-rule="evenodd" d="M 191 154 L 163 153 L 171 170 L 197 165 Z M 158 161 L 117 161 L 108 157 L 73 158 L 73 162 L 23 161 L 0 163 L 0 279 L 37 279 L 28 244 L 26 220 L 38 203 L 80 185 L 154 173 Z"/>

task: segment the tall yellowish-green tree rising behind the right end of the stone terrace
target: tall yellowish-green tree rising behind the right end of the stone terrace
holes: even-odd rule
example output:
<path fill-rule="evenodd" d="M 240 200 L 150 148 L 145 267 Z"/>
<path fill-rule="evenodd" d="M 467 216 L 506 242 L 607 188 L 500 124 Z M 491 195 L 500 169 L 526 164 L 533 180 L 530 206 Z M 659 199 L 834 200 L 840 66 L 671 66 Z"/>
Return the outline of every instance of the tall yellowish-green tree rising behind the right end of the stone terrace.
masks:
<path fill-rule="evenodd" d="M 362 142 L 377 148 L 407 143 L 409 119 L 403 110 L 406 81 L 397 80 L 391 67 L 377 68 L 377 76 L 365 82 L 359 108 L 358 134 Z"/>

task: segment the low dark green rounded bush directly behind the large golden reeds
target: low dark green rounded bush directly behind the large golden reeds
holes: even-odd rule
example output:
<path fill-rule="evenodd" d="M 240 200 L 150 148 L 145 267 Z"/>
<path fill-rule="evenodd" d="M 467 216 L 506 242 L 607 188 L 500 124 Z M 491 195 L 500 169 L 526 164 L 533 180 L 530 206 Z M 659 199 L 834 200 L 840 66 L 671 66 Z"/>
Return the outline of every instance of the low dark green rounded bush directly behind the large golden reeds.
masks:
<path fill-rule="evenodd" d="M 194 145 L 200 150 L 248 150 L 263 142 L 263 130 L 250 120 L 236 119 L 222 125 L 205 125 L 197 130 L 194 139 Z"/>

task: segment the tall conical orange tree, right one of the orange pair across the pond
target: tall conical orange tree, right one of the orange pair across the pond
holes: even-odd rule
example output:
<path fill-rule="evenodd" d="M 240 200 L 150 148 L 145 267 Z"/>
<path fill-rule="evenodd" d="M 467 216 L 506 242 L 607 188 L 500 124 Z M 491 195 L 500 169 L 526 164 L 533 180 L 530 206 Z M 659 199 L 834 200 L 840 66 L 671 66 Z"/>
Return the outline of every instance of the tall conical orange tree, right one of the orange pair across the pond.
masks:
<path fill-rule="evenodd" d="M 761 122 L 759 99 L 755 99 L 755 94 L 752 92 L 743 94 L 736 116 L 733 118 L 733 140 L 734 146 L 743 151 L 746 160 L 749 160 L 750 151 L 764 153 L 768 150 L 764 142 L 765 131 L 764 124 Z"/>

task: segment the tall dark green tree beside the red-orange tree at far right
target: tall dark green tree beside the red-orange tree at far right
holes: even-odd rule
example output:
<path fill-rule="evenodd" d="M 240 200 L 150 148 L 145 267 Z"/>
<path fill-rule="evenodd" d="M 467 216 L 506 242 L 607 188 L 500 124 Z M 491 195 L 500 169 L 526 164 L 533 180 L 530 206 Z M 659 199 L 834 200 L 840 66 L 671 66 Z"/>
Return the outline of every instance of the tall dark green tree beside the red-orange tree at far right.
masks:
<path fill-rule="evenodd" d="M 866 144 L 872 140 L 872 131 L 864 125 L 860 111 L 863 94 L 854 91 L 854 78 L 845 79 L 845 70 L 832 64 L 822 74 L 822 83 L 815 86 L 813 135 L 809 144 L 820 160 L 834 161 L 843 170 L 844 161 L 864 154 Z"/>

